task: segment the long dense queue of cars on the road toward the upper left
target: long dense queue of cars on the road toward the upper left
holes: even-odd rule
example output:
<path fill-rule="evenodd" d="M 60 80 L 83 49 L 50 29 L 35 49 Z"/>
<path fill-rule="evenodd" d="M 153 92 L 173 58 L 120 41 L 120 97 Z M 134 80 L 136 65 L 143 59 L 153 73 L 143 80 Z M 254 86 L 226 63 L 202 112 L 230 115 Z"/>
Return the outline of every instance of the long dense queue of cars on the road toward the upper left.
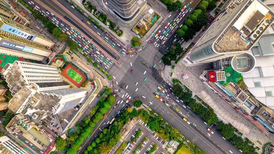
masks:
<path fill-rule="evenodd" d="M 53 13 L 48 12 L 42 6 L 36 7 L 35 10 L 39 11 L 43 16 L 51 20 L 54 25 L 59 27 L 62 30 L 62 32 L 64 32 L 67 35 L 68 38 L 70 38 L 72 41 L 78 44 L 78 47 L 82 50 L 83 54 L 87 55 L 88 57 L 92 57 L 101 66 L 105 67 L 105 69 L 109 69 L 113 65 L 114 62 L 109 57 L 107 57 L 105 54 L 100 52 L 93 44 L 91 44 L 88 40 L 86 40 L 86 38 L 83 37 L 76 29 L 67 25 L 65 22 L 60 20 Z M 98 35 L 102 35 L 102 34 L 99 33 Z M 109 35 L 107 34 L 107 36 Z M 109 42 L 112 42 L 112 41 L 109 41 Z M 112 45 L 112 46 L 115 46 L 115 45 Z M 121 45 L 117 43 L 117 46 L 121 46 Z M 124 51 L 125 49 L 121 50 L 122 55 Z"/>

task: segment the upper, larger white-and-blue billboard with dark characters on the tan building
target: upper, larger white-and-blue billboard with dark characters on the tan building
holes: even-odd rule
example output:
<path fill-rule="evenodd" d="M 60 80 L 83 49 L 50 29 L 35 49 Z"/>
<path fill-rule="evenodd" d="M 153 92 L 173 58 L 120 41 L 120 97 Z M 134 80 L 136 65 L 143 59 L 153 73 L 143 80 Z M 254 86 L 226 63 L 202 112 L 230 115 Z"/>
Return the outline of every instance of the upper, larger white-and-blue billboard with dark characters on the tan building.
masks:
<path fill-rule="evenodd" d="M 6 32 L 12 33 L 14 35 L 26 38 L 26 39 L 31 40 L 31 41 L 33 41 L 33 39 L 35 39 L 35 37 L 36 37 L 36 36 L 33 36 L 33 35 L 25 32 L 25 31 L 23 31 L 23 30 L 20 30 L 18 28 L 15 28 L 15 27 L 10 26 L 10 25 L 5 24 L 5 23 L 0 27 L 0 29 L 4 30 Z"/>

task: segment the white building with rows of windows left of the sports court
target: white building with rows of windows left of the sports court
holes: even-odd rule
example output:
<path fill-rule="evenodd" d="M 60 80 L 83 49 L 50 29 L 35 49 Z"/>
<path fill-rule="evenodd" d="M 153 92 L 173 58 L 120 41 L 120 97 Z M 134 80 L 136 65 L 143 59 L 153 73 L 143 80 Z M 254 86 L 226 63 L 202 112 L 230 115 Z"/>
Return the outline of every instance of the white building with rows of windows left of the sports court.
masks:
<path fill-rule="evenodd" d="M 56 66 L 23 61 L 7 64 L 3 69 L 3 76 L 10 87 L 12 95 L 15 95 L 24 85 L 31 83 L 62 82 L 62 76 Z"/>

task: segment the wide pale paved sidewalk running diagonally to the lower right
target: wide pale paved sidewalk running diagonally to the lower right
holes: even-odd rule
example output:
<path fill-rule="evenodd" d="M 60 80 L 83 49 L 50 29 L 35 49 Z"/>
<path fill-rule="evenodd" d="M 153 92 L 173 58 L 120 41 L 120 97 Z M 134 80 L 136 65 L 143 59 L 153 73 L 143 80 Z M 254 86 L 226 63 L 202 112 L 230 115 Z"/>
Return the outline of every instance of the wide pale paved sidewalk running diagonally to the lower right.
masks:
<path fill-rule="evenodd" d="M 225 102 L 218 94 L 214 93 L 207 85 L 203 84 L 199 80 L 199 75 L 204 69 L 204 65 L 187 67 L 183 64 L 183 60 L 176 65 L 172 70 L 169 66 L 165 67 L 162 72 L 163 79 L 172 84 L 172 78 L 179 79 L 184 85 L 191 89 L 196 95 L 207 102 L 215 111 L 215 113 L 223 119 L 225 122 L 230 123 L 258 147 L 262 147 L 263 144 L 273 141 L 272 135 L 267 136 L 251 124 L 247 119 L 242 117 L 235 109 L 233 109 L 227 102 Z M 173 71 L 172 78 L 170 77 L 170 71 Z M 182 74 L 187 73 L 189 78 L 183 80 Z M 260 141 L 262 145 L 258 144 Z"/>

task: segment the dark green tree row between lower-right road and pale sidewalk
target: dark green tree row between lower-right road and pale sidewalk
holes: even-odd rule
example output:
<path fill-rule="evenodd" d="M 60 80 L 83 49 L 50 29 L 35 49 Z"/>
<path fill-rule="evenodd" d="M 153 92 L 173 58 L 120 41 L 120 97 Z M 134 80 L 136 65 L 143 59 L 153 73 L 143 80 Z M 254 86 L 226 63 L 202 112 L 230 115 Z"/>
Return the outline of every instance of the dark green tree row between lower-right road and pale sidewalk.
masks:
<path fill-rule="evenodd" d="M 217 129 L 225 139 L 230 141 L 230 143 L 245 153 L 257 153 L 253 144 L 251 144 L 247 138 L 244 140 L 242 137 L 235 134 L 236 129 L 231 124 L 224 124 L 222 121 L 218 121 L 217 115 L 212 108 L 204 107 L 203 104 L 197 103 L 196 100 L 192 98 L 191 91 L 183 88 L 179 83 L 174 85 L 172 90 L 177 97 L 182 99 L 184 103 L 197 113 L 207 124 L 216 124 Z"/>

